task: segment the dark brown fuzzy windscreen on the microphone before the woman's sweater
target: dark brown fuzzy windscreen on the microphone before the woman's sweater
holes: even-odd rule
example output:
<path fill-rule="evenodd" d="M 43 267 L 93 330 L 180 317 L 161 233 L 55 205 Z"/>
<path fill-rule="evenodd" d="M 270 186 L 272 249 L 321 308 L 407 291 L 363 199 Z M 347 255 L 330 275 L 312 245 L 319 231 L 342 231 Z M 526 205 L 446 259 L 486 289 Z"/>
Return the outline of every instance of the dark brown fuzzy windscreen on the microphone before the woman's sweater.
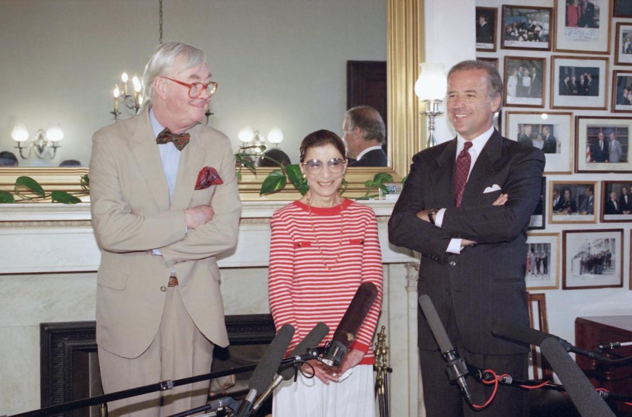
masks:
<path fill-rule="evenodd" d="M 377 287 L 373 283 L 360 285 L 349 304 L 349 308 L 344 312 L 340 324 L 336 327 L 332 339 L 344 344 L 346 348 L 351 346 L 375 298 L 377 298 Z"/>

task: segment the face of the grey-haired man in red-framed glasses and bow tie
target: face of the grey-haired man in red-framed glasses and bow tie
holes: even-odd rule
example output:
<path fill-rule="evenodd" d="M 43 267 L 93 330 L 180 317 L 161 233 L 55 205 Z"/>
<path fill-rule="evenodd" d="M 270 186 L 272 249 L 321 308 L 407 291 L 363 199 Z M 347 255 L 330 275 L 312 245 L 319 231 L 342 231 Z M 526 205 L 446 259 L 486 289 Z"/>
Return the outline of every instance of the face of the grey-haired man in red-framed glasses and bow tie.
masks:
<path fill-rule="evenodd" d="M 184 62 L 184 57 L 178 57 L 173 69 L 165 76 L 184 83 L 209 82 L 209 67 L 206 64 L 183 70 Z M 172 132 L 185 131 L 204 119 L 205 108 L 210 102 L 208 91 L 202 91 L 200 97 L 191 98 L 188 87 L 163 77 L 155 78 L 154 90 L 154 112 L 159 122 Z"/>

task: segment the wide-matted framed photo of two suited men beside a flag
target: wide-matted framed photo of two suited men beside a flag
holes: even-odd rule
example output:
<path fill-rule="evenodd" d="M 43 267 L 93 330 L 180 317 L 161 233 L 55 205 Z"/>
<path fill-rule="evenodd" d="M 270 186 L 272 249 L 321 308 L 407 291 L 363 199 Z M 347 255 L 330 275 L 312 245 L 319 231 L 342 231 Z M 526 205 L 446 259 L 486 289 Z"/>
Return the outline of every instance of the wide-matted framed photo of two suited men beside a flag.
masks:
<path fill-rule="evenodd" d="M 632 172 L 629 117 L 575 116 L 575 172 Z"/>

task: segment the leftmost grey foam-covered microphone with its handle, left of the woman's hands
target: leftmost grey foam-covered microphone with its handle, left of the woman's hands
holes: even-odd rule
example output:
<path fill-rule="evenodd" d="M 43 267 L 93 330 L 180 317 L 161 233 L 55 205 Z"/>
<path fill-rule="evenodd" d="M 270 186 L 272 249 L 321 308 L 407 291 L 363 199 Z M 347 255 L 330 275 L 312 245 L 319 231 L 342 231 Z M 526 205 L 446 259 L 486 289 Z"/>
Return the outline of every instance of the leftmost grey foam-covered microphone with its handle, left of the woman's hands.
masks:
<path fill-rule="evenodd" d="M 252 372 L 252 377 L 250 377 L 248 381 L 250 391 L 248 391 L 246 397 L 241 400 L 240 406 L 235 412 L 236 417 L 250 415 L 252 402 L 255 400 L 255 397 L 257 397 L 257 393 L 264 391 L 267 384 L 269 384 L 270 380 L 272 380 L 276 374 L 279 365 L 281 365 L 281 360 L 283 360 L 283 355 L 285 355 L 285 351 L 292 341 L 292 336 L 294 336 L 294 327 L 289 324 L 281 326 L 281 329 L 279 329 L 277 335 L 272 339 L 268 348 L 265 349 L 264 355 Z"/>

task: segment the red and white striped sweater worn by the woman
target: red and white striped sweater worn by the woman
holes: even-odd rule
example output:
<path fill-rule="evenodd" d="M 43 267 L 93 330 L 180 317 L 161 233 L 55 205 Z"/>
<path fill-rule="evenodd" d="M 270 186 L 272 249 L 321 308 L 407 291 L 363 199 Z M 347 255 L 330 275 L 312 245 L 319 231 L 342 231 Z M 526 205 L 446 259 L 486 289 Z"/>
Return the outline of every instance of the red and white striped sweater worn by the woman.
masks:
<path fill-rule="evenodd" d="M 320 321 L 329 326 L 324 341 L 331 340 L 358 287 L 374 283 L 377 298 L 351 344 L 366 354 L 360 363 L 372 364 L 371 342 L 382 307 L 382 254 L 375 213 L 344 199 L 335 207 L 312 207 L 312 220 L 308 206 L 300 201 L 278 209 L 270 220 L 268 288 L 274 324 L 277 331 L 283 324 L 296 329 L 288 351 Z M 329 267 L 335 264 L 331 271 L 325 262 Z"/>

